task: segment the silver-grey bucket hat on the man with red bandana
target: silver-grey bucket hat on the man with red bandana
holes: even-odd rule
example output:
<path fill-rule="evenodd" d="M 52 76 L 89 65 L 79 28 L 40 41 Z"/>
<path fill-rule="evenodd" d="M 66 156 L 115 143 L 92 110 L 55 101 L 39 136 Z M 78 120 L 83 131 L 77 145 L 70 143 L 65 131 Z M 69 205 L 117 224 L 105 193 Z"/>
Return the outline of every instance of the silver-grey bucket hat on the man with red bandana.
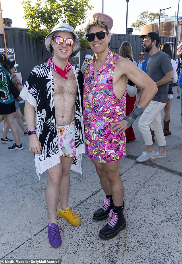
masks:
<path fill-rule="evenodd" d="M 73 34 L 75 43 L 74 43 L 73 52 L 69 58 L 74 57 L 80 51 L 80 48 L 81 48 L 80 40 L 79 40 L 77 34 L 74 32 L 74 29 L 72 28 L 72 26 L 65 24 L 65 23 L 59 23 L 56 26 L 54 26 L 52 29 L 52 32 L 46 36 L 45 45 L 46 45 L 47 50 L 52 55 L 54 55 L 54 50 L 53 50 L 53 47 L 51 45 L 51 39 L 53 38 L 54 33 L 57 31 L 71 32 Z"/>

